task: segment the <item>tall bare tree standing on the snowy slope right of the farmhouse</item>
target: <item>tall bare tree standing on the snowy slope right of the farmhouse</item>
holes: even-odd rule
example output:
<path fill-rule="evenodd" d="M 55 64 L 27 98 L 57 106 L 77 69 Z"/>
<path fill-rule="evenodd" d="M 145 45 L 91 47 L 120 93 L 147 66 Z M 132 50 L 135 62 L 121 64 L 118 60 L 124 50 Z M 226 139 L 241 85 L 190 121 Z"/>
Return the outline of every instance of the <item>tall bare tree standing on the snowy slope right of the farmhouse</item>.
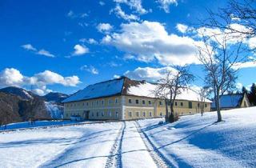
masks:
<path fill-rule="evenodd" d="M 203 44 L 198 46 L 198 59 L 206 71 L 206 86 L 214 92 L 218 121 L 222 121 L 220 95 L 234 88 L 236 73 L 234 66 L 246 59 L 242 42 L 245 37 L 230 36 L 225 30 L 201 32 Z"/>

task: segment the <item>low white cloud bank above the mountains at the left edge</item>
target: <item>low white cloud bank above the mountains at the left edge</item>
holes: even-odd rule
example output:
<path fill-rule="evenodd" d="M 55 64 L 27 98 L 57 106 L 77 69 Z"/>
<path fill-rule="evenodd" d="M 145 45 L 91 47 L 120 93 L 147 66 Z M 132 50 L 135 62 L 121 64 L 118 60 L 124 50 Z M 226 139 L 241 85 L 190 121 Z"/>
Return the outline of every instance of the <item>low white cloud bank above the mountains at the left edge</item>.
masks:
<path fill-rule="evenodd" d="M 51 91 L 46 88 L 48 85 L 77 86 L 79 83 L 81 82 L 78 76 L 63 77 L 61 74 L 54 73 L 50 70 L 34 74 L 31 77 L 23 75 L 19 70 L 14 68 L 6 68 L 0 72 L 0 87 L 34 86 L 34 92 L 40 95 Z"/>

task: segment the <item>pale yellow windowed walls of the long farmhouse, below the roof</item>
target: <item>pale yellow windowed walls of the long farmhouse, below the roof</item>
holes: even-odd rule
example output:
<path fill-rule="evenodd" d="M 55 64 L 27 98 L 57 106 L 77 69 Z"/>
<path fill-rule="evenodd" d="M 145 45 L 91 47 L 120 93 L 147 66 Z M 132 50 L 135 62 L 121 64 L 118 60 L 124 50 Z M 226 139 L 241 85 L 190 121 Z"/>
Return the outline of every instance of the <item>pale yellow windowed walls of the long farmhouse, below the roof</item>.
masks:
<path fill-rule="evenodd" d="M 200 102 L 177 100 L 175 114 L 200 113 Z M 205 103 L 205 111 L 210 111 L 210 102 Z M 170 106 L 168 106 L 170 111 Z M 64 118 L 77 115 L 84 119 L 95 120 L 130 120 L 137 118 L 156 118 L 166 115 L 165 102 L 162 99 L 130 95 L 95 98 L 64 104 Z"/>

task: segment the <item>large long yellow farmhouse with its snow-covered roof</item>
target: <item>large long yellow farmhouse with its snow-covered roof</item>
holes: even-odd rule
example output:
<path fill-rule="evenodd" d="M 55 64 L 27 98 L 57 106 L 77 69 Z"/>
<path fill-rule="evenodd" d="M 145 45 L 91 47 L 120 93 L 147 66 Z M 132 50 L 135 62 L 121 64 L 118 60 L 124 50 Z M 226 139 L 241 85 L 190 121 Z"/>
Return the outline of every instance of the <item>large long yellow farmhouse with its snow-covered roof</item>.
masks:
<path fill-rule="evenodd" d="M 72 94 L 64 102 L 64 118 L 80 116 L 82 119 L 130 120 L 155 118 L 166 114 L 165 102 L 154 98 L 156 84 L 122 77 L 87 86 Z M 185 89 L 174 103 L 176 114 L 200 113 L 199 95 Z M 210 100 L 204 102 L 210 111 Z"/>

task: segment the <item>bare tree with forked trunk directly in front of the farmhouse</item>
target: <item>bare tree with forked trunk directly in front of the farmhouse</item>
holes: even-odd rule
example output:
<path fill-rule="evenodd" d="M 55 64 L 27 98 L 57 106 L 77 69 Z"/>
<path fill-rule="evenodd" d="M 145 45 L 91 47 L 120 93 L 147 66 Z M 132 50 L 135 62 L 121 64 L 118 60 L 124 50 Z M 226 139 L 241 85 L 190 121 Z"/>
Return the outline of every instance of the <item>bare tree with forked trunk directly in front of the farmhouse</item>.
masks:
<path fill-rule="evenodd" d="M 188 66 L 174 66 L 176 71 L 169 71 L 165 78 L 158 80 L 158 87 L 155 93 L 162 95 L 166 102 L 166 120 L 175 121 L 174 102 L 178 94 L 185 90 L 190 82 L 194 81 L 194 75 L 190 74 Z M 168 114 L 168 104 L 170 104 L 170 116 Z M 176 116 L 177 117 L 177 116 Z"/>

